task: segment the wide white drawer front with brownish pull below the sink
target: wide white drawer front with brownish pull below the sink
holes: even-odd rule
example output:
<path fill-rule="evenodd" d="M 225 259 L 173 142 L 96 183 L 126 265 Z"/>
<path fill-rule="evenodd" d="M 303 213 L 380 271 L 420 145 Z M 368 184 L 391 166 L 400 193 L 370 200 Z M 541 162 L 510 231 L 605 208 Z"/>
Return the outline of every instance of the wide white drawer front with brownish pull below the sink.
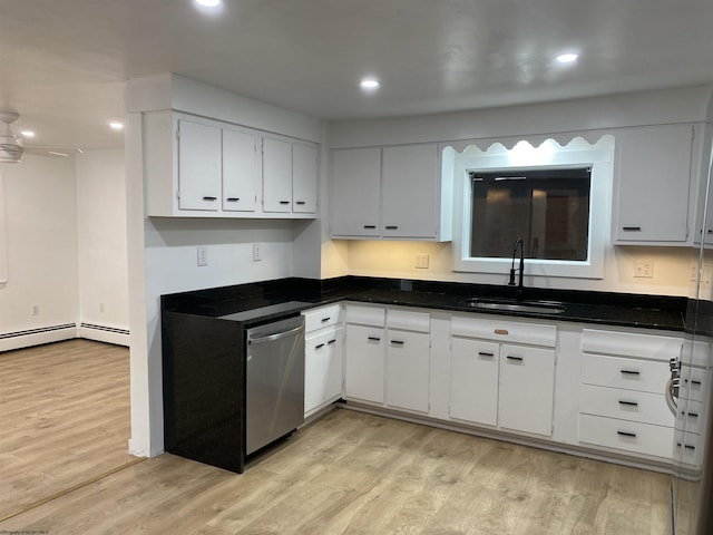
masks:
<path fill-rule="evenodd" d="M 450 332 L 456 337 L 482 338 L 546 348 L 554 348 L 557 343 L 557 328 L 541 323 L 455 315 L 451 319 Z"/>

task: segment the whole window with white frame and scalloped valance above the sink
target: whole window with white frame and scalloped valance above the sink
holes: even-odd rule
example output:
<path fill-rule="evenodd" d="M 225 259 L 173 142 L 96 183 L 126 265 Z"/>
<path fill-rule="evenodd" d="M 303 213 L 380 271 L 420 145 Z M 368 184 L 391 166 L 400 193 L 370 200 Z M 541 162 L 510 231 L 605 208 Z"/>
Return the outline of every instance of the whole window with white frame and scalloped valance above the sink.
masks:
<path fill-rule="evenodd" d="M 456 202 L 453 270 L 507 274 L 522 239 L 525 274 L 600 279 L 609 230 L 614 139 L 548 139 L 443 150 Z M 456 198 L 459 195 L 457 194 Z"/>

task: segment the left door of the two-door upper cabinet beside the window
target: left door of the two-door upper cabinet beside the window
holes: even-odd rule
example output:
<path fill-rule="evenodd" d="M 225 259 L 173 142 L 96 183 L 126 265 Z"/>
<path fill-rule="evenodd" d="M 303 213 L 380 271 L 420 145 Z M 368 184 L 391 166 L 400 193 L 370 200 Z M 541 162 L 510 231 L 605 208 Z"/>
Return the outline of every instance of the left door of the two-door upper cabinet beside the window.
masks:
<path fill-rule="evenodd" d="M 332 150 L 332 235 L 378 237 L 381 149 Z"/>

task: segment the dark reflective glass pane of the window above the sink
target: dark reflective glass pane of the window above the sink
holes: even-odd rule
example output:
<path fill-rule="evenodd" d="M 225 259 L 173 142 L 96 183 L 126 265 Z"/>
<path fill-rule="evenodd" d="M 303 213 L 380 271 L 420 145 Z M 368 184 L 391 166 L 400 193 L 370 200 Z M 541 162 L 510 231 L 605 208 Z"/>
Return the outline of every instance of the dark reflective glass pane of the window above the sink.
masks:
<path fill-rule="evenodd" d="M 470 171 L 470 257 L 587 261 L 590 167 Z"/>

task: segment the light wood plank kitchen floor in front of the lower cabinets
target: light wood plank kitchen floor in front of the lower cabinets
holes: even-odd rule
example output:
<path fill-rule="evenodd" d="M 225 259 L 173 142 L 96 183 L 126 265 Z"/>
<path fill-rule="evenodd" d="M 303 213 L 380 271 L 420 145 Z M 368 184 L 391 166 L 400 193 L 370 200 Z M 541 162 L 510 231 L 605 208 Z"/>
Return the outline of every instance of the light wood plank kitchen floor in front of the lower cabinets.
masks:
<path fill-rule="evenodd" d="M 87 441 L 84 430 L 64 437 Z M 21 438 L 3 440 L 22 447 Z M 22 469 L 11 470 L 22 479 Z M 243 475 L 162 455 L 0 522 L 0 531 L 664 535 L 668 483 L 661 474 L 340 409 Z"/>

